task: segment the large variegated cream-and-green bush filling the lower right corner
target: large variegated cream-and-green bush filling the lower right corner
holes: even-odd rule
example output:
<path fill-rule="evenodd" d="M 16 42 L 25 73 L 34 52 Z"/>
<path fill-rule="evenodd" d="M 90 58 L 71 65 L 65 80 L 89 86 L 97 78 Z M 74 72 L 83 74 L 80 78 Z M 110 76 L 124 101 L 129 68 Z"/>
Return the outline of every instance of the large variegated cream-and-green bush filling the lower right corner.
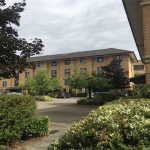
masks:
<path fill-rule="evenodd" d="M 74 124 L 49 150 L 148 150 L 150 100 L 122 99 Z"/>

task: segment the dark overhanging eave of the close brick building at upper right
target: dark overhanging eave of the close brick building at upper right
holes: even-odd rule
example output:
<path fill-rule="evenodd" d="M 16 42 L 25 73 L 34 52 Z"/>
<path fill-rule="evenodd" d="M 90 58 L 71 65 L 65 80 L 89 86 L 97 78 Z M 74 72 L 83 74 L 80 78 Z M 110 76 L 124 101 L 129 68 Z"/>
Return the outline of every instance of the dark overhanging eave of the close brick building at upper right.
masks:
<path fill-rule="evenodd" d="M 129 20 L 129 24 L 140 53 L 143 56 L 144 52 L 144 34 L 143 34 L 143 13 L 141 0 L 122 0 L 125 11 Z"/>

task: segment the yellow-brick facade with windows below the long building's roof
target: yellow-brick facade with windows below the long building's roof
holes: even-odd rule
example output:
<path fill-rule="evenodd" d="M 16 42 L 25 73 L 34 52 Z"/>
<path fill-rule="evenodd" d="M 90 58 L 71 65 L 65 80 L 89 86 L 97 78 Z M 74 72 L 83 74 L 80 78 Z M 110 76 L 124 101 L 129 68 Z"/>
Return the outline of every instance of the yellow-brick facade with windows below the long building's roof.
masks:
<path fill-rule="evenodd" d="M 106 50 L 107 51 L 107 50 Z M 36 63 L 41 63 L 42 67 L 45 67 L 48 70 L 49 75 L 51 76 L 52 71 L 57 72 L 57 78 L 60 81 L 61 87 L 65 88 L 67 92 L 69 92 L 69 86 L 65 85 L 65 79 L 67 79 L 67 75 L 65 75 L 65 69 L 70 70 L 70 76 L 73 75 L 75 72 L 80 73 L 81 68 L 86 68 L 89 73 L 97 72 L 97 68 L 108 65 L 112 59 L 115 56 L 121 56 L 122 57 L 122 67 L 127 72 L 127 76 L 129 78 L 132 78 L 134 76 L 134 70 L 133 70 L 133 63 L 136 61 L 135 55 L 133 52 L 127 51 L 127 53 L 120 53 L 120 54 L 107 54 L 107 55 L 93 55 L 88 57 L 83 57 L 86 62 L 81 63 L 80 62 L 80 56 L 75 58 L 70 58 L 70 64 L 65 64 L 65 59 L 56 59 L 56 60 L 40 60 Z M 102 57 L 103 60 L 98 62 L 97 58 Z M 133 58 L 134 57 L 134 58 Z M 81 57 L 82 58 L 82 57 Z M 57 62 L 56 66 L 52 66 L 52 62 Z M 33 76 L 37 73 L 37 70 L 39 67 L 37 66 L 34 70 L 33 69 L 27 69 L 25 72 L 19 74 L 19 85 L 23 84 L 26 76 Z M 27 73 L 26 73 L 27 72 Z M 7 82 L 7 87 L 3 87 L 3 82 Z M 14 87 L 14 79 L 2 79 L 0 80 L 0 90 L 5 90 L 7 88 L 13 88 Z"/>

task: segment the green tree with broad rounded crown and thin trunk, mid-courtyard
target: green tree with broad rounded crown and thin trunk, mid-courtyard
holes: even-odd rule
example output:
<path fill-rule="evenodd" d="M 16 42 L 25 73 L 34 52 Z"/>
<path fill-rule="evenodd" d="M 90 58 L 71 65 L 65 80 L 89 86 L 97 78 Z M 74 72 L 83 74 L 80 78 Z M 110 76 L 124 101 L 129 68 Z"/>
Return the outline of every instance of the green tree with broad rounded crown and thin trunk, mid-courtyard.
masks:
<path fill-rule="evenodd" d="M 109 85 L 109 80 L 102 78 L 99 74 L 79 74 L 79 75 L 73 75 L 69 78 L 69 85 L 71 88 L 74 89 L 88 89 L 89 98 L 91 98 L 91 93 L 95 89 L 106 89 Z"/>

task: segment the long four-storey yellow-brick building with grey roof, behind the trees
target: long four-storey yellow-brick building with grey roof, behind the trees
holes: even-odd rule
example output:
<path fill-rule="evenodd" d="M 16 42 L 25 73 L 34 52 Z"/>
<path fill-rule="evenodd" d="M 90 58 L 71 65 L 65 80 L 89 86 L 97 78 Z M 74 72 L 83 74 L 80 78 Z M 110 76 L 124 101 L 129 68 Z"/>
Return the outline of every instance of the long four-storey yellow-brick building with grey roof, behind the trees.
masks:
<path fill-rule="evenodd" d="M 134 52 L 110 48 L 29 58 L 27 61 L 29 63 L 34 62 L 36 68 L 26 69 L 26 71 L 16 76 L 16 79 L 1 79 L 0 89 L 5 90 L 23 84 L 27 77 L 36 74 L 39 67 L 45 67 L 49 75 L 58 78 L 63 89 L 68 92 L 67 78 L 69 76 L 76 71 L 79 73 L 100 72 L 102 71 L 101 67 L 108 65 L 113 58 L 122 60 L 122 67 L 129 78 L 134 76 L 133 63 L 137 62 Z"/>

